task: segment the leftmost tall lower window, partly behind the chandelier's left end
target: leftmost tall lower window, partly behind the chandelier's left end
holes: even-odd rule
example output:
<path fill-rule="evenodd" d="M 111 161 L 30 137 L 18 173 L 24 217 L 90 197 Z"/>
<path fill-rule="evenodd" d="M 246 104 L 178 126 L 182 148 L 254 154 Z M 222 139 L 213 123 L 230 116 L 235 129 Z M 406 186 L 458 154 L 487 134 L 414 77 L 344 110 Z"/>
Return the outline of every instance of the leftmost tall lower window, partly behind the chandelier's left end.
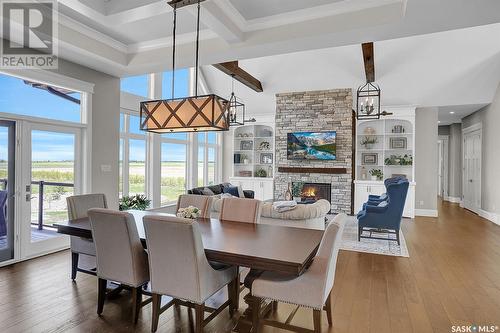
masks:
<path fill-rule="evenodd" d="M 147 136 L 139 121 L 127 112 L 120 115 L 120 196 L 146 193 Z"/>

